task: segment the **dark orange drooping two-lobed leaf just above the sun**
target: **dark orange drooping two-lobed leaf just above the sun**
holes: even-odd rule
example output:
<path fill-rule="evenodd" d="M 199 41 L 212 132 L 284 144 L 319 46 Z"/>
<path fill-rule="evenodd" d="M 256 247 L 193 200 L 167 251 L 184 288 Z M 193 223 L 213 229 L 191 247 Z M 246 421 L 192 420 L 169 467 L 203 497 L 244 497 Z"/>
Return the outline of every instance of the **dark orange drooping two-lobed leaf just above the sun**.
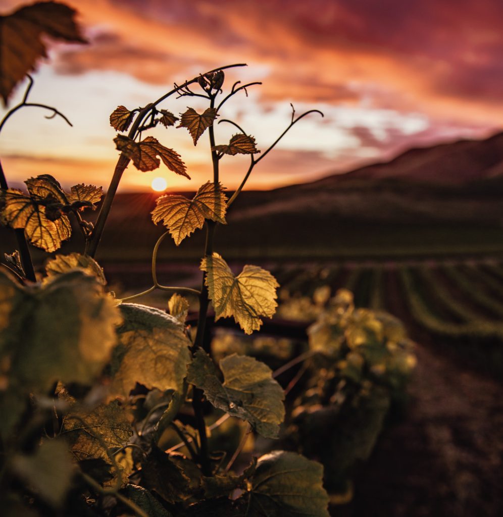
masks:
<path fill-rule="evenodd" d="M 181 161 L 180 155 L 173 149 L 164 147 L 153 136 L 147 136 L 140 143 L 136 143 L 128 136 L 118 134 L 114 138 L 114 142 L 117 149 L 130 160 L 133 160 L 133 165 L 140 171 L 147 172 L 157 169 L 161 163 L 157 156 L 160 156 L 168 169 L 190 179 L 186 172 L 185 163 Z"/>

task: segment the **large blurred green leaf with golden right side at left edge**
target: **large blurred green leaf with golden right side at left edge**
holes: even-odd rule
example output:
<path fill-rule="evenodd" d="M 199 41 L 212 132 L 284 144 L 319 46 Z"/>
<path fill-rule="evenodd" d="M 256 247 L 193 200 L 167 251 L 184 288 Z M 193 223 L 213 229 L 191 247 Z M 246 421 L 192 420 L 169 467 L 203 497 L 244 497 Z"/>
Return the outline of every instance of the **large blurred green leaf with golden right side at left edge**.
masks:
<path fill-rule="evenodd" d="M 94 381 L 110 359 L 120 322 L 114 301 L 82 271 L 30 287 L 0 273 L 2 415 L 12 393 L 46 393 L 56 381 Z M 13 423 L 5 411 L 0 430 Z"/>

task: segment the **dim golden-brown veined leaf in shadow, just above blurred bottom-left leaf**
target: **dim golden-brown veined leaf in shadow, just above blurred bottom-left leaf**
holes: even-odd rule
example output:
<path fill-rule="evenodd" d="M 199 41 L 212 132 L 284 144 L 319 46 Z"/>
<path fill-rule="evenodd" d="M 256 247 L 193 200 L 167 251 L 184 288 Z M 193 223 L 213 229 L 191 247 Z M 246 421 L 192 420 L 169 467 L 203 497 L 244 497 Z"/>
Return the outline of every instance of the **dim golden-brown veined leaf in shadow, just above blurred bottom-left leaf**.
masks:
<path fill-rule="evenodd" d="M 132 434 L 129 415 L 116 401 L 92 409 L 71 409 L 63 418 L 61 432 L 76 460 L 102 459 L 109 466 L 113 465 L 109 454 L 126 445 Z M 121 469 L 123 482 L 129 474 L 128 469 Z"/>

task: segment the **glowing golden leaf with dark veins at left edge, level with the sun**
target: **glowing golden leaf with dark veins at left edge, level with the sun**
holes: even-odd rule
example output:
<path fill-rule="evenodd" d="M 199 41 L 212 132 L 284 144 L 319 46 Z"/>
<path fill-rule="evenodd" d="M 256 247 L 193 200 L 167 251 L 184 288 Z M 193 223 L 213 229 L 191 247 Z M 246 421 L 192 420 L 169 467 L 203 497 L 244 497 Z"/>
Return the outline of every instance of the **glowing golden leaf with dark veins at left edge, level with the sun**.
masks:
<path fill-rule="evenodd" d="M 24 229 L 34 246 L 56 251 L 71 236 L 70 220 L 61 212 L 68 205 L 65 192 L 49 174 L 27 179 L 25 184 L 28 195 L 18 189 L 5 191 L 2 218 L 11 227 Z"/>

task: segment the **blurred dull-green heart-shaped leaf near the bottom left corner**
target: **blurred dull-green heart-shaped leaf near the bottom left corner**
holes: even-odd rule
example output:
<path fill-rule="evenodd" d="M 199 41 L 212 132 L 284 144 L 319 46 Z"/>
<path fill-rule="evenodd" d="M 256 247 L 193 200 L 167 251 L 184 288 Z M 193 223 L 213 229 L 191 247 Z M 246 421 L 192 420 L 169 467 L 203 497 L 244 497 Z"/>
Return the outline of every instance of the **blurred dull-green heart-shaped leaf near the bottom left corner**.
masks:
<path fill-rule="evenodd" d="M 72 483 L 74 466 L 62 440 L 45 440 L 35 454 L 14 456 L 11 468 L 51 506 L 63 505 Z"/>

